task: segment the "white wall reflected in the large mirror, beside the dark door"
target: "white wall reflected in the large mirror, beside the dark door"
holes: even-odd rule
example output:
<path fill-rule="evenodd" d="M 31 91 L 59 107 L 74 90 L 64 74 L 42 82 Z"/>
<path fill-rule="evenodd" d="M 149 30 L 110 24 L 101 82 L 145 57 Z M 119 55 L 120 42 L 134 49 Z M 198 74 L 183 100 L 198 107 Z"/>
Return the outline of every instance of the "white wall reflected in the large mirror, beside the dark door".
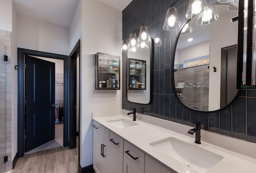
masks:
<path fill-rule="evenodd" d="M 237 12 L 221 14 L 210 29 L 209 110 L 220 109 L 221 48 L 237 44 L 238 21 L 230 21 L 234 16 Z M 213 72 L 213 67 L 217 72 Z"/>

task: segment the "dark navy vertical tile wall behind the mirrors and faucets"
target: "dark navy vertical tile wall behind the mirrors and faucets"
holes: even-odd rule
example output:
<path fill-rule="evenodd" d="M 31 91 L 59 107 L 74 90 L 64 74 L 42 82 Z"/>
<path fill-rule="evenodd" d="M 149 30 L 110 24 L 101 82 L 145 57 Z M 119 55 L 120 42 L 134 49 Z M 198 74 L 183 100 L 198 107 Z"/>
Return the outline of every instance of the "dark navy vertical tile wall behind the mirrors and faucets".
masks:
<path fill-rule="evenodd" d="M 214 3 L 217 0 L 206 0 Z M 122 108 L 194 126 L 191 122 L 200 120 L 202 128 L 242 140 L 256 143 L 256 90 L 240 90 L 232 105 L 219 112 L 202 113 L 182 106 L 176 96 L 170 71 L 172 52 L 177 31 L 162 29 L 166 11 L 176 0 L 133 0 L 123 10 L 123 38 L 144 24 L 148 27 L 150 36 L 160 38 L 160 43 L 153 47 L 152 64 L 152 94 L 148 105 L 130 103 L 126 100 L 126 55 L 122 55 Z M 188 0 L 179 0 L 173 7 L 178 9 L 180 21 L 186 22 L 185 13 Z M 159 54 L 158 54 L 159 52 Z M 164 85 L 162 85 L 164 84 Z"/>

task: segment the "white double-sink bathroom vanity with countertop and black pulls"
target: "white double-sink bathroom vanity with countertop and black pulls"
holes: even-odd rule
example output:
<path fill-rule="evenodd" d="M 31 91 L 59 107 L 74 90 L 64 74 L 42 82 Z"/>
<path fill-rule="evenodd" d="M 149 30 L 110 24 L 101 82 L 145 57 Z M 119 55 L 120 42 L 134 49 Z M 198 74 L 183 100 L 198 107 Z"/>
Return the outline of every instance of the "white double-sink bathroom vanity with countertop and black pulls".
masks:
<path fill-rule="evenodd" d="M 172 123 L 176 129 L 184 131 L 180 134 L 156 126 L 159 120 L 155 125 L 142 121 L 146 117 L 142 114 L 132 121 L 132 117 L 124 116 L 125 111 L 123 115 L 113 116 L 104 111 L 93 112 L 93 167 L 96 173 L 241 173 L 256 170 L 256 159 L 252 157 L 204 140 L 202 144 L 195 144 L 194 136 L 184 135 L 190 126 L 160 120 L 162 126 Z M 204 135 L 203 132 L 202 137 Z"/>

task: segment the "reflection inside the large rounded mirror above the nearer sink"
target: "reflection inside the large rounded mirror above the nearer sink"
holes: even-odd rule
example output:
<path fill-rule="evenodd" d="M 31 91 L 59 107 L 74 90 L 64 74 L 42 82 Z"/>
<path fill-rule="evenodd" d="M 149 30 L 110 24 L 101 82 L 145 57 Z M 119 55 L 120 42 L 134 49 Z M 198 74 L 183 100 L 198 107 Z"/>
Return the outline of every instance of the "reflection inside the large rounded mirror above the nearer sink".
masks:
<path fill-rule="evenodd" d="M 232 3 L 215 3 L 212 8 L 209 7 L 214 13 L 210 16 L 212 18 L 200 19 L 199 15 L 198 19 L 189 20 L 189 27 L 183 26 L 192 28 L 192 32 L 178 37 L 174 84 L 179 100 L 189 108 L 219 110 L 237 94 L 238 21 L 231 20 L 238 16 L 238 11 L 229 11 L 230 6 Z M 237 8 L 237 4 L 233 3 L 232 7 Z M 216 20 L 209 22 L 213 18 Z"/>

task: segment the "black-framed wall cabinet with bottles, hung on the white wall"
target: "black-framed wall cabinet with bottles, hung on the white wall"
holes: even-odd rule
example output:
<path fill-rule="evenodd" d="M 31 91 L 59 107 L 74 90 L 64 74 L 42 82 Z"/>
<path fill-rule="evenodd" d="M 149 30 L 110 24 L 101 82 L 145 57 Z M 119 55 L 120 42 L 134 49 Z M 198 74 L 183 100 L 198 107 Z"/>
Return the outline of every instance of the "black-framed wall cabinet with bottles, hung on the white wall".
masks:
<path fill-rule="evenodd" d="M 120 56 L 96 53 L 96 90 L 120 90 Z"/>

